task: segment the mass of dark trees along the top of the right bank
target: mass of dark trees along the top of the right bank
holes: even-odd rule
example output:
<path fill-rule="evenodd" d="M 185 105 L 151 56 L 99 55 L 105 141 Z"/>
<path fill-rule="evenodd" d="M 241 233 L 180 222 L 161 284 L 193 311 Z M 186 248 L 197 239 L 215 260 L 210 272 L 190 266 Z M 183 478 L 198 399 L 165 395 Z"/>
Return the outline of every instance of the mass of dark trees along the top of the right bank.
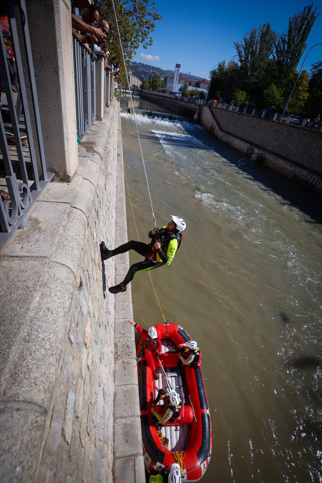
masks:
<path fill-rule="evenodd" d="M 287 34 L 278 35 L 269 23 L 251 28 L 241 41 L 234 42 L 234 59 L 222 60 L 210 71 L 208 99 L 220 98 L 229 103 L 232 99 L 236 101 L 235 92 L 244 91 L 244 101 L 249 105 L 284 109 L 297 76 L 296 67 L 307 47 L 307 37 L 316 18 L 316 9 L 311 4 L 289 18 Z M 312 73 L 313 77 L 316 82 L 308 84 L 307 72 L 301 73 L 290 102 L 292 112 L 303 113 L 308 105 L 308 95 L 321 99 L 322 88 L 314 85 L 320 85 L 322 63 Z"/>

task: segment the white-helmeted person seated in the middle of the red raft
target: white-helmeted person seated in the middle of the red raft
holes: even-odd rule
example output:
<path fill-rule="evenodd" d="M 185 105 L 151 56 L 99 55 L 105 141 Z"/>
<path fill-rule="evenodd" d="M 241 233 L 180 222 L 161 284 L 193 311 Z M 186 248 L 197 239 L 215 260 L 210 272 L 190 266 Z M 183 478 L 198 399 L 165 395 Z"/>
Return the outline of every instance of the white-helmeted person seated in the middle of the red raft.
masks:
<path fill-rule="evenodd" d="M 160 399 L 163 399 L 164 411 L 159 414 L 155 411 L 154 405 L 157 404 Z M 176 421 L 181 417 L 183 410 L 183 403 L 174 390 L 170 390 L 168 393 L 164 389 L 159 389 L 158 396 L 153 400 L 153 406 L 151 407 L 151 412 L 154 417 L 152 417 L 152 424 L 155 424 L 157 431 L 159 431 L 161 424 L 167 421 Z"/>

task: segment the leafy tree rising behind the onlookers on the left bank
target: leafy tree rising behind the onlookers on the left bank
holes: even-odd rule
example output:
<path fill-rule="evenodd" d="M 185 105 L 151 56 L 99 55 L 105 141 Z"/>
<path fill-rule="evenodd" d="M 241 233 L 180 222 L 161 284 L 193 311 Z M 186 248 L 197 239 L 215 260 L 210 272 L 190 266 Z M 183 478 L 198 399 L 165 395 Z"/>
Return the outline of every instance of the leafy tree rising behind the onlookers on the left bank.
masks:
<path fill-rule="evenodd" d="M 155 28 L 155 22 L 161 20 L 161 15 L 158 14 L 154 2 L 150 4 L 149 0 L 114 0 L 116 22 L 112 0 L 98 0 L 97 5 L 101 12 L 100 19 L 106 20 L 110 26 L 106 44 L 111 57 L 116 57 L 124 68 L 117 23 L 124 58 L 128 62 L 140 46 L 146 49 L 152 45 L 150 33 Z"/>

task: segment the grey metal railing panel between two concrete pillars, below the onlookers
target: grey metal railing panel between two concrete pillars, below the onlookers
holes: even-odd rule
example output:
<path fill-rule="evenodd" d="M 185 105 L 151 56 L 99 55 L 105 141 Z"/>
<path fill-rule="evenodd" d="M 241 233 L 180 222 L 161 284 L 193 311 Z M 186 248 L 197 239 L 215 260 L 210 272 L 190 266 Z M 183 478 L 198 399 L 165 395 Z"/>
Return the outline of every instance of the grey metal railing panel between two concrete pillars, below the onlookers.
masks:
<path fill-rule="evenodd" d="M 77 136 L 81 139 L 96 119 L 95 62 L 73 34 Z"/>

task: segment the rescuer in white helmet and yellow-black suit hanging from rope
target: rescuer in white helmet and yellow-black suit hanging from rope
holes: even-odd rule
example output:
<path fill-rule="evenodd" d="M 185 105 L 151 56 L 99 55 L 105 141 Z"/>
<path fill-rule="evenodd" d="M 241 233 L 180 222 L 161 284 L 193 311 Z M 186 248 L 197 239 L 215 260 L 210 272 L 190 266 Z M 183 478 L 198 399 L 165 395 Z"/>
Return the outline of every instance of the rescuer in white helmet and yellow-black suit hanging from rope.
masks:
<path fill-rule="evenodd" d="M 114 250 L 109 250 L 106 248 L 104 241 L 102 241 L 100 244 L 102 260 L 107 260 L 112 256 L 128 252 L 129 250 L 134 250 L 139 255 L 144 256 L 143 262 L 131 265 L 123 282 L 114 287 L 110 287 L 108 290 L 112 294 L 125 292 L 127 284 L 133 280 L 137 271 L 153 270 L 164 264 L 170 265 L 174 259 L 176 251 L 180 248 L 182 243 L 181 231 L 183 231 L 185 227 L 186 223 L 180 218 L 180 216 L 171 216 L 171 221 L 169 221 L 166 227 L 162 227 L 160 230 L 153 227 L 149 232 L 148 237 L 151 238 L 149 244 L 143 243 L 142 241 L 131 240 Z"/>

